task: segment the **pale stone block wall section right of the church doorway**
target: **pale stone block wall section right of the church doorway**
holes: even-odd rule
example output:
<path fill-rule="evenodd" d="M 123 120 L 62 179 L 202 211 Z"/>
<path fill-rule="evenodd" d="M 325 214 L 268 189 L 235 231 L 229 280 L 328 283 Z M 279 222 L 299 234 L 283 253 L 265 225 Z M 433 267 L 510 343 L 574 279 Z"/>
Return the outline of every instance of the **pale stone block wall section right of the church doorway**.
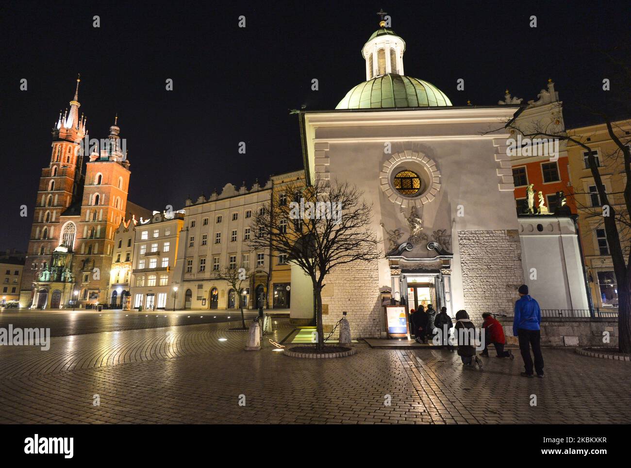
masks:
<path fill-rule="evenodd" d="M 458 231 L 464 309 L 481 320 L 483 312 L 512 313 L 524 283 L 517 230 Z M 455 312 L 455 311 L 454 311 Z"/>

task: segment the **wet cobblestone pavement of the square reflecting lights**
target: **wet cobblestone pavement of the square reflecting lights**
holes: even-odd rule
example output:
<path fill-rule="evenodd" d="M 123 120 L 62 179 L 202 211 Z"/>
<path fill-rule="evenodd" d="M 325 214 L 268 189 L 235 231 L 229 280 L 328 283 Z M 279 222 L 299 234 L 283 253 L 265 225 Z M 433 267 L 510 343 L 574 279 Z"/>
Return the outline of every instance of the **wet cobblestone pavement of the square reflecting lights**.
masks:
<path fill-rule="evenodd" d="M 624 362 L 544 349 L 546 377 L 526 379 L 519 356 L 485 358 L 478 371 L 442 349 L 357 344 L 348 358 L 304 360 L 273 351 L 267 339 L 261 351 L 244 351 L 247 333 L 228 331 L 235 325 L 54 337 L 49 351 L 0 346 L 0 423 L 631 420 L 631 365 Z M 273 339 L 289 331 L 276 320 Z"/>

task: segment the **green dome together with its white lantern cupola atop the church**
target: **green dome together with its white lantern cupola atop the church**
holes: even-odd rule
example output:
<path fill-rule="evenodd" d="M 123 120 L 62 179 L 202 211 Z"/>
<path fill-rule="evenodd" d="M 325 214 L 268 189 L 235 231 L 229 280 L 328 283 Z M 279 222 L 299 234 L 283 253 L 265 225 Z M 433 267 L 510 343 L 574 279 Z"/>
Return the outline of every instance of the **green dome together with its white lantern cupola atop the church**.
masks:
<path fill-rule="evenodd" d="M 451 106 L 436 86 L 404 75 L 404 52 L 403 38 L 381 21 L 362 48 L 366 81 L 348 91 L 336 109 Z"/>

